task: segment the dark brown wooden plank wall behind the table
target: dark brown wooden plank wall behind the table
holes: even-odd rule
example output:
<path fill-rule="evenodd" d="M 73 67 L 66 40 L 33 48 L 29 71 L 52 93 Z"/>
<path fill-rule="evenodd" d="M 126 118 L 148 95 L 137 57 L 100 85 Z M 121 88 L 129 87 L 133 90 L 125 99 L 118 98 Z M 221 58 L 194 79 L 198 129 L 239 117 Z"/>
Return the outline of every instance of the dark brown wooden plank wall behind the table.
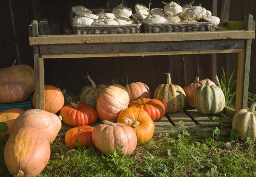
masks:
<path fill-rule="evenodd" d="M 163 8 L 162 0 L 152 0 L 152 8 Z M 167 1 L 167 0 L 166 0 Z M 33 67 L 33 47 L 29 46 L 28 26 L 32 20 L 48 18 L 52 34 L 65 34 L 69 27 L 69 10 L 72 6 L 87 8 L 113 8 L 121 0 L 1 0 L 0 1 L 0 67 L 12 65 L 14 59 Z M 185 4 L 188 0 L 180 0 Z M 123 0 L 124 6 L 134 8 L 136 3 L 148 4 L 148 0 Z M 168 1 L 167 1 L 168 3 Z M 212 0 L 198 1 L 212 10 Z M 244 20 L 245 14 L 256 17 L 256 1 L 232 0 L 230 21 Z M 217 3 L 217 16 L 221 13 L 221 0 Z M 62 28 L 63 27 L 63 28 Z M 100 48 L 99 48 L 100 50 Z M 144 57 L 109 57 L 88 59 L 45 59 L 45 84 L 52 84 L 68 92 L 79 94 L 89 85 L 85 78 L 88 72 L 96 84 L 121 84 L 142 81 L 152 92 L 157 85 L 166 82 L 162 73 L 172 74 L 172 83 L 181 87 L 200 79 L 210 78 L 210 54 L 171 55 Z M 217 75 L 222 76 L 222 67 L 229 77 L 237 69 L 237 53 L 217 54 Z M 249 91 L 256 93 L 256 40 L 252 42 Z M 236 79 L 236 72 L 234 75 Z"/>

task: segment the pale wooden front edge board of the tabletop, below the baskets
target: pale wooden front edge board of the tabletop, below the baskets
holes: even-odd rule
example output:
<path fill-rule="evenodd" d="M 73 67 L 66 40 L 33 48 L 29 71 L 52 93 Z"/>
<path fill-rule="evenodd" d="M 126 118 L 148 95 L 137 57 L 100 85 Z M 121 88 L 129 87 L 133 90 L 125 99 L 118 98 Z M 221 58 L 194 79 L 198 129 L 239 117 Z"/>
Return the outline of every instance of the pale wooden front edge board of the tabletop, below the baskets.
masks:
<path fill-rule="evenodd" d="M 254 39 L 255 31 L 204 31 L 178 33 L 140 34 L 99 34 L 99 35 L 47 35 L 29 37 L 30 45 L 84 44 L 84 43 L 127 43 L 127 42 L 166 42 L 204 41 L 219 39 Z"/>

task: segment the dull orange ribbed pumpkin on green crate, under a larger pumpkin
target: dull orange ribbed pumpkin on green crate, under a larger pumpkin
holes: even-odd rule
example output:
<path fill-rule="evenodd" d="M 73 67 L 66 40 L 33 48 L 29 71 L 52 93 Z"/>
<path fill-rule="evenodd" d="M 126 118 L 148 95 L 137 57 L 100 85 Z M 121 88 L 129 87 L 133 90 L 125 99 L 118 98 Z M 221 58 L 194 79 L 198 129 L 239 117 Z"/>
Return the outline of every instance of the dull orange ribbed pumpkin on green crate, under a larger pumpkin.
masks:
<path fill-rule="evenodd" d="M 29 98 L 29 87 L 18 82 L 0 84 L 0 104 L 17 103 Z"/>

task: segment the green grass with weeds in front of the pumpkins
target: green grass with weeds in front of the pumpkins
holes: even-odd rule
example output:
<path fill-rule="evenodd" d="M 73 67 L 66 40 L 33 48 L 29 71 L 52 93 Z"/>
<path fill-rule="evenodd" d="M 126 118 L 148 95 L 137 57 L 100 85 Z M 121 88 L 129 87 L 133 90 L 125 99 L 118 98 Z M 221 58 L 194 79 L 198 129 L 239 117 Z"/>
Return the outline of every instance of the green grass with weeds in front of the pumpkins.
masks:
<path fill-rule="evenodd" d="M 204 132 L 184 129 L 154 134 L 130 156 L 103 155 L 95 146 L 70 149 L 61 137 L 51 144 L 51 159 L 38 177 L 255 177 L 256 143 L 239 139 L 221 125 Z M 0 176 L 11 177 L 0 143 Z"/>

